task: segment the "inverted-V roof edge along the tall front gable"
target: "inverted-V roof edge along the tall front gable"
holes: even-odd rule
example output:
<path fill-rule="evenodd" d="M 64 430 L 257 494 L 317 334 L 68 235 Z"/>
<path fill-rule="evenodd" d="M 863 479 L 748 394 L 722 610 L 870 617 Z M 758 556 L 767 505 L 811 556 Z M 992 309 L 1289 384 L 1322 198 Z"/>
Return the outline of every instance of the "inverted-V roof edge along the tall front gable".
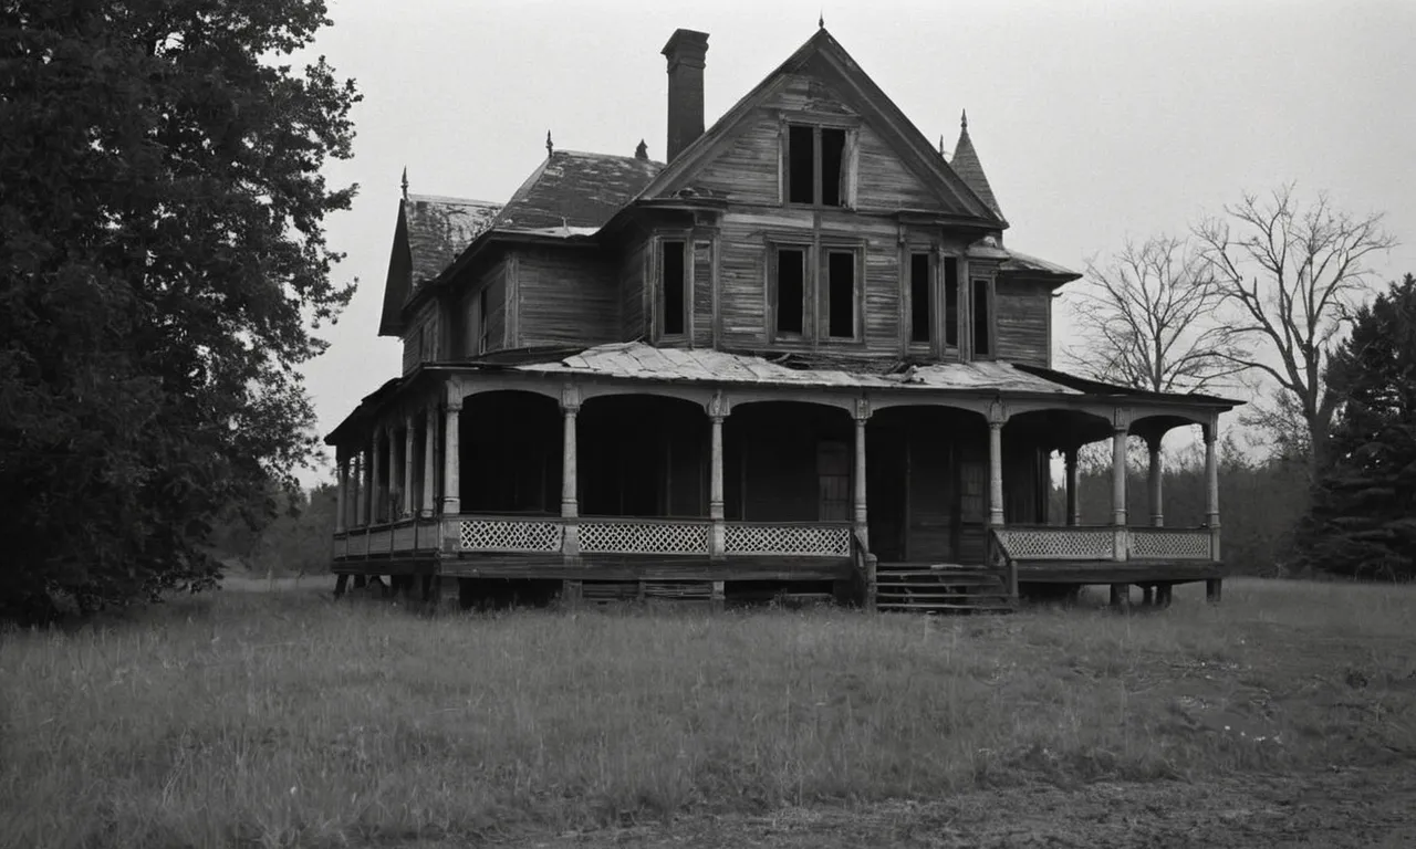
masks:
<path fill-rule="evenodd" d="M 762 82 L 738 100 L 716 123 L 712 125 L 674 161 L 650 183 L 640 198 L 661 197 L 674 191 L 692 173 L 711 160 L 724 149 L 735 134 L 735 130 L 750 115 L 763 106 L 787 81 L 792 74 L 800 71 L 809 61 L 820 58 L 837 75 L 841 93 L 850 99 L 862 117 L 879 132 L 885 140 L 901 154 L 901 158 L 926 183 L 929 183 L 940 200 L 950 200 L 964 211 L 966 216 L 977 218 L 993 229 L 1003 229 L 1008 222 L 997 212 L 995 204 L 980 197 L 949 163 L 943 161 L 929 139 L 919 132 L 919 127 L 901 112 L 889 96 L 881 91 L 865 71 L 851 58 L 845 48 L 823 27 L 816 31 L 787 61 L 769 74 Z"/>

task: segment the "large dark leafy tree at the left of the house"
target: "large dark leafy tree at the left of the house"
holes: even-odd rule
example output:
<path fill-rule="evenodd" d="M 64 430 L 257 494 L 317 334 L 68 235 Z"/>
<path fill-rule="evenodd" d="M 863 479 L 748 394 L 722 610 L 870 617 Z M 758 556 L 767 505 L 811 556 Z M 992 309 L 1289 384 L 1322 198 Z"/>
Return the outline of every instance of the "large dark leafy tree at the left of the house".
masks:
<path fill-rule="evenodd" d="M 228 504 L 313 456 L 296 366 L 353 286 L 351 81 L 319 0 L 0 6 L 0 616 L 211 582 Z"/>

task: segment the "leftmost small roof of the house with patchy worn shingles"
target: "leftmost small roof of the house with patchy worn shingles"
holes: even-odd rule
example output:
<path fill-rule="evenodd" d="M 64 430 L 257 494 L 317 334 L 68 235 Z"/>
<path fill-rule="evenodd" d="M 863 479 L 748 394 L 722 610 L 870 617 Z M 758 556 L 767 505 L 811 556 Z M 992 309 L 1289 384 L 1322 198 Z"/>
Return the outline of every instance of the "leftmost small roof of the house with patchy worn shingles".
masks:
<path fill-rule="evenodd" d="M 384 282 L 379 335 L 398 335 L 404 304 L 425 283 L 481 235 L 501 209 L 500 204 L 409 194 L 398 202 L 394 249 Z"/>

